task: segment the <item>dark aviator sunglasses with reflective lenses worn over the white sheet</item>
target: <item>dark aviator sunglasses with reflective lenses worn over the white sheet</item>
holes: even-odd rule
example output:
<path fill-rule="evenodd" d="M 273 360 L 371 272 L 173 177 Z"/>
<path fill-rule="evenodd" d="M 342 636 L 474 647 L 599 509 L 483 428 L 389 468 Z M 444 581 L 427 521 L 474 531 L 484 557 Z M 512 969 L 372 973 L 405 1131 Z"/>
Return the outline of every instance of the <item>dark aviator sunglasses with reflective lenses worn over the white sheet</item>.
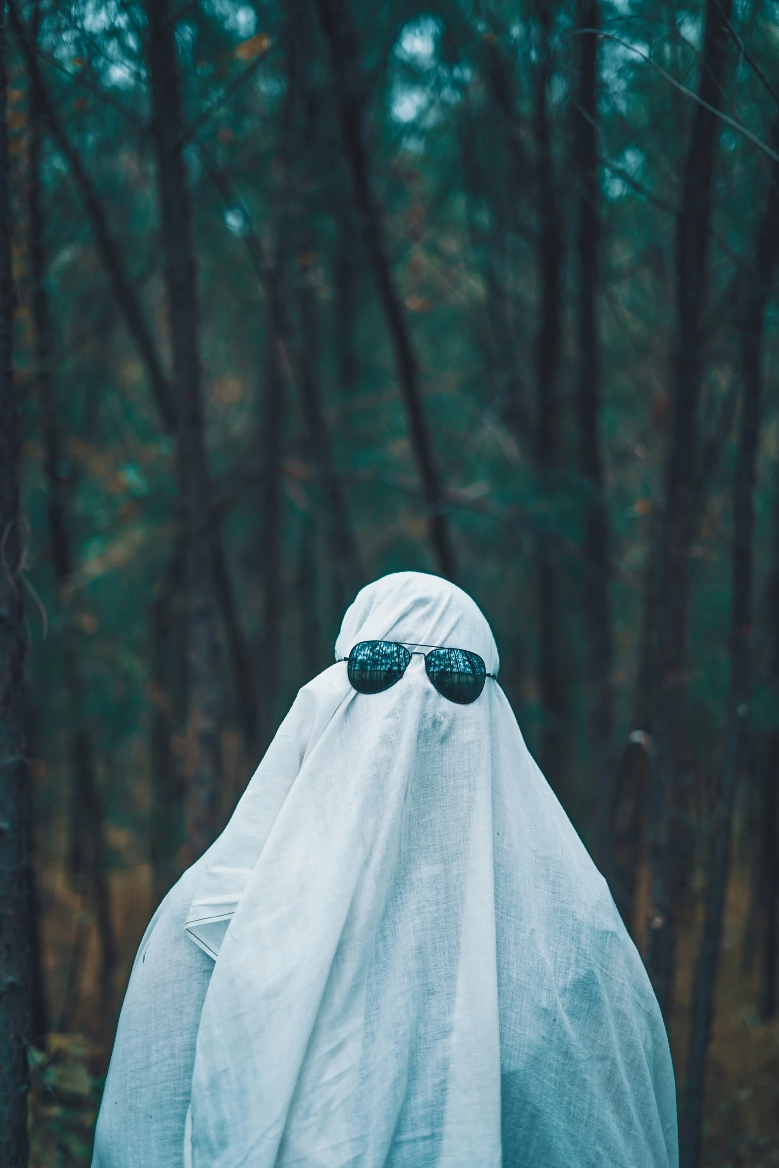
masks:
<path fill-rule="evenodd" d="M 423 645 L 430 653 L 409 653 L 405 645 L 394 641 L 360 641 L 341 658 L 347 662 L 352 686 L 359 694 L 381 694 L 401 680 L 412 656 L 424 656 L 425 673 L 433 686 L 450 702 L 470 705 L 485 688 L 487 667 L 478 653 L 470 649 L 446 649 Z"/>

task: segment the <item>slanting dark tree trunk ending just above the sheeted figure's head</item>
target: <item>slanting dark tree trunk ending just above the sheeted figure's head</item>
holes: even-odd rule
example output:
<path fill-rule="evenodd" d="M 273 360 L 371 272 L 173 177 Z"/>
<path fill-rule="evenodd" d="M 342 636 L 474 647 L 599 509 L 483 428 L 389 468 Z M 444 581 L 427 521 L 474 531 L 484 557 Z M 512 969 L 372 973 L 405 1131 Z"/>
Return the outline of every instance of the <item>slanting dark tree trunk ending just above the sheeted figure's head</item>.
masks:
<path fill-rule="evenodd" d="M 438 571 L 451 579 L 454 576 L 454 554 L 448 534 L 446 493 L 425 416 L 419 362 L 392 278 L 383 216 L 370 179 L 363 124 L 362 69 L 354 19 L 347 0 L 317 0 L 317 6 L 322 30 L 331 47 L 338 117 L 352 175 L 354 199 L 362 218 L 366 252 L 395 352 L 411 449 L 427 512 L 430 545 Z"/>

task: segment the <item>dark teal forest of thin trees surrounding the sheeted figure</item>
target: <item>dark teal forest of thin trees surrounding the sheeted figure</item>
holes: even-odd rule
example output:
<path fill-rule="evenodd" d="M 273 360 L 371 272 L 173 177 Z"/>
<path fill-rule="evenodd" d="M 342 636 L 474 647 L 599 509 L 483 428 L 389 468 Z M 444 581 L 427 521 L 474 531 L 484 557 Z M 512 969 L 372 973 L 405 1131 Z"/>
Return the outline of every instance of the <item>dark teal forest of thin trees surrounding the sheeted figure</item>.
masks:
<path fill-rule="evenodd" d="M 448 577 L 779 1163 L 779 5 L 4 0 L 0 1164 L 376 577 Z"/>

